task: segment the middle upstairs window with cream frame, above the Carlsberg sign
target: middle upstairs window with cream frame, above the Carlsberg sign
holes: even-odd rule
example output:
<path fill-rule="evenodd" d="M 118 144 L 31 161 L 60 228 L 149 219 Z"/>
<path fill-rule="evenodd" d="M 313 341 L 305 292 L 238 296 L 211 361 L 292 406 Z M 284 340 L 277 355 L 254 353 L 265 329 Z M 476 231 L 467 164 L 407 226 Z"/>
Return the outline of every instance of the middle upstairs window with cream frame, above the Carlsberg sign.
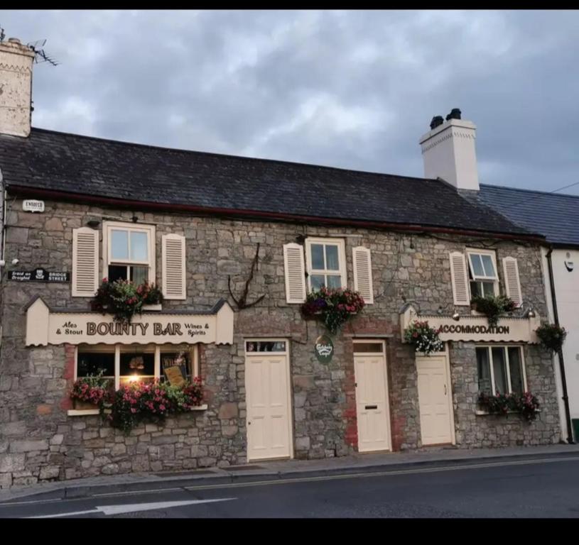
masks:
<path fill-rule="evenodd" d="M 344 241 L 339 238 L 306 238 L 308 286 L 310 291 L 320 287 L 347 287 Z"/>

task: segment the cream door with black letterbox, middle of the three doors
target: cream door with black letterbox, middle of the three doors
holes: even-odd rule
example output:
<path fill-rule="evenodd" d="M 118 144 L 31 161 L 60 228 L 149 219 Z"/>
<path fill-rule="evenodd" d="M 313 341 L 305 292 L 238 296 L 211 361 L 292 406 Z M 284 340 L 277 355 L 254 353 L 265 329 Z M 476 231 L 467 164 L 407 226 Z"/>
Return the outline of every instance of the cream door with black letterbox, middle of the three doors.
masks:
<path fill-rule="evenodd" d="M 389 451 L 390 411 L 383 341 L 354 343 L 358 451 Z"/>

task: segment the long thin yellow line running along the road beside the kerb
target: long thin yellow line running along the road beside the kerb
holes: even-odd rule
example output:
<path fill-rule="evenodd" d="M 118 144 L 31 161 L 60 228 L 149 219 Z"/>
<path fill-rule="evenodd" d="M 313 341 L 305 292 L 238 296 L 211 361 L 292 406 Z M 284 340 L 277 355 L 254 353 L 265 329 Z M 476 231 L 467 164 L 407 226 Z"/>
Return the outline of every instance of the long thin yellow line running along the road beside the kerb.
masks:
<path fill-rule="evenodd" d="M 577 461 L 579 456 L 562 456 L 561 458 L 535 458 L 531 460 L 515 460 L 515 461 L 502 461 L 502 462 L 487 462 L 487 463 L 465 463 L 458 464 L 457 466 L 449 466 L 443 468 L 416 468 L 408 470 L 386 470 L 380 472 L 369 472 L 369 473 L 343 473 L 341 475 L 328 475 L 325 477 L 303 477 L 303 478 L 286 478 L 286 479 L 272 479 L 272 480 L 262 480 L 254 481 L 253 483 L 224 483 L 222 485 L 199 485 L 199 486 L 185 486 L 183 488 L 153 488 L 151 490 L 129 490 L 127 492 L 103 492 L 101 494 L 92 494 L 90 496 L 84 497 L 71 497 L 71 498 L 50 498 L 47 500 L 26 500 L 21 502 L 4 502 L 0 503 L 1 507 L 9 507 L 11 505 L 31 505 L 31 504 L 41 504 L 41 503 L 55 503 L 55 502 L 80 502 L 86 501 L 90 497 L 115 497 L 115 496 L 130 496 L 130 495 L 146 495 L 146 494 L 158 494 L 162 492 L 173 492 L 175 490 L 211 490 L 215 488 L 239 488 L 239 487 L 249 487 L 249 486 L 264 486 L 264 485 L 276 485 L 276 484 L 287 484 L 287 483 L 303 483 L 311 480 L 337 480 L 337 479 L 349 479 L 349 478 L 361 478 L 361 477 L 384 477 L 386 475 L 408 475 L 412 473 L 435 473 L 438 471 L 456 471 L 456 470 L 466 470 L 466 469 L 480 469 L 480 468 L 492 468 L 492 467 L 502 467 L 502 466 L 524 466 L 534 463 L 556 463 L 556 462 L 568 462 Z M 40 492 L 41 493 L 41 492 Z"/>

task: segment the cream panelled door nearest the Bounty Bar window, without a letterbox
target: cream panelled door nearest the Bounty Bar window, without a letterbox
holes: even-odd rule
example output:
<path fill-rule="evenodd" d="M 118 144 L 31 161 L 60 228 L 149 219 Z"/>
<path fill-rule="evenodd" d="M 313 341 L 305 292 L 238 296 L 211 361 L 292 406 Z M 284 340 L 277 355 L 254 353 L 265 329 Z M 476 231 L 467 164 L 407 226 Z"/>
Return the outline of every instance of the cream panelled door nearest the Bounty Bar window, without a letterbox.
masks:
<path fill-rule="evenodd" d="M 247 459 L 290 458 L 291 411 L 286 341 L 247 341 Z"/>

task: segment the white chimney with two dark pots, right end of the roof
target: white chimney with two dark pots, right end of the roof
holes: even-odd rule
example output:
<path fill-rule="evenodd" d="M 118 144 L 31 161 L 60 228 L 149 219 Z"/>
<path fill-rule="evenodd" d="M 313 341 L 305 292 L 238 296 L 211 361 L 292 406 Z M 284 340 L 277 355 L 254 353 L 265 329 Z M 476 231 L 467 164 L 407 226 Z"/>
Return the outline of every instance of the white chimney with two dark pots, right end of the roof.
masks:
<path fill-rule="evenodd" d="M 431 128 L 420 139 L 424 177 L 442 178 L 457 189 L 478 191 L 475 123 L 460 119 L 460 110 L 453 109 L 447 121 L 433 118 Z"/>

